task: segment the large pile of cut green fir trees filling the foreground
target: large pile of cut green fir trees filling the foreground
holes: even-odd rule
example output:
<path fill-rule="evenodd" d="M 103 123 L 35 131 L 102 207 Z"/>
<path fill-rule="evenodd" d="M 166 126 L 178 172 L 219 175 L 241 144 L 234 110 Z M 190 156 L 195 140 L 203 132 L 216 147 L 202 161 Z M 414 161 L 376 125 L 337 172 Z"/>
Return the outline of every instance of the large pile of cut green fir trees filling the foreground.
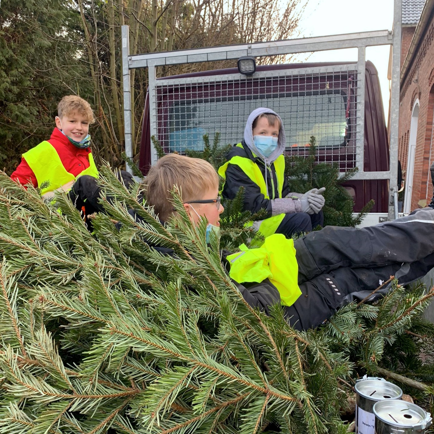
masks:
<path fill-rule="evenodd" d="M 67 197 L 0 175 L 0 433 L 343 433 L 358 372 L 433 380 L 422 286 L 296 332 L 244 302 L 176 192 L 163 227 L 101 173 L 116 200 L 92 234 Z"/>

